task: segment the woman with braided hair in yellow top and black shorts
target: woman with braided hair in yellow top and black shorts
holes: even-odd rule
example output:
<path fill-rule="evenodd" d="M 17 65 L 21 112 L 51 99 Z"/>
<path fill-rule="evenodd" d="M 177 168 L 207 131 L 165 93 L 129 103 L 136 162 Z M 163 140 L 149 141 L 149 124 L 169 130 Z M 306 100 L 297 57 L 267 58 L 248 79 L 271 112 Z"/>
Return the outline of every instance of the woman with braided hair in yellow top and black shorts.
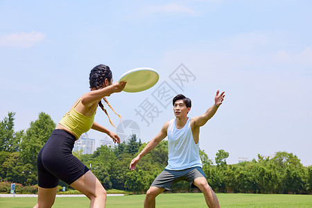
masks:
<path fill-rule="evenodd" d="M 90 207 L 105 207 L 106 191 L 101 182 L 89 171 L 87 166 L 73 156 L 71 151 L 76 139 L 90 128 L 106 133 L 112 137 L 114 143 L 120 142 L 114 132 L 94 122 L 94 115 L 98 105 L 107 114 L 101 99 L 103 98 L 109 105 L 105 96 L 121 92 L 126 83 L 112 85 L 112 71 L 110 71 L 110 67 L 103 64 L 92 69 L 89 82 L 91 92 L 83 94 L 76 101 L 71 110 L 58 123 L 38 154 L 39 189 L 35 207 L 51 207 L 53 205 L 59 179 L 85 194 L 91 200 Z M 108 118 L 110 119 L 109 116 Z"/>

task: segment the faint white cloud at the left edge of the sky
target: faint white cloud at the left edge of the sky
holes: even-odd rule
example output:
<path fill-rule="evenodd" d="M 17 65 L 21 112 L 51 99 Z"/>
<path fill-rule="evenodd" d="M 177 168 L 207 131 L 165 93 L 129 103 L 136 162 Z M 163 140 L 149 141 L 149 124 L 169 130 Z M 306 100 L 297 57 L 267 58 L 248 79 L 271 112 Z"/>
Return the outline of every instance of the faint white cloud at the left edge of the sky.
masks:
<path fill-rule="evenodd" d="M 13 33 L 0 36 L 0 46 L 23 47 L 28 48 L 42 42 L 45 35 L 40 32 L 31 31 L 31 33 Z"/>

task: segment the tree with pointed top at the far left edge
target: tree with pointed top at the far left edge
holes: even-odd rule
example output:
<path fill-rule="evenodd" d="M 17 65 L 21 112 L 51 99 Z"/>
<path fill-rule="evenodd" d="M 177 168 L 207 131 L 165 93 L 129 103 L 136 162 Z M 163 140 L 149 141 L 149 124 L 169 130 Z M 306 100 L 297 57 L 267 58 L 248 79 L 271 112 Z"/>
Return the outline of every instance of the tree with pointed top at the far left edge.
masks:
<path fill-rule="evenodd" d="M 15 112 L 8 112 L 8 117 L 0 122 L 0 150 L 10 153 L 19 150 L 19 143 L 24 135 L 24 130 L 14 131 L 14 116 Z"/>

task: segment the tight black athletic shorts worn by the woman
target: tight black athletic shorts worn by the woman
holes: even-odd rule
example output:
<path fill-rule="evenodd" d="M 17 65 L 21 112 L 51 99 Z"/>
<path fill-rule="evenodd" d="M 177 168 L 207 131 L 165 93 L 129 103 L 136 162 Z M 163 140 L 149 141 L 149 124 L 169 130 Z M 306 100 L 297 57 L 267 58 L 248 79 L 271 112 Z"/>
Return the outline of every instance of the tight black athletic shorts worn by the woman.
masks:
<path fill-rule="evenodd" d="M 37 157 L 38 186 L 54 188 L 59 179 L 71 184 L 85 175 L 89 168 L 73 156 L 76 137 L 65 130 L 55 129 Z"/>

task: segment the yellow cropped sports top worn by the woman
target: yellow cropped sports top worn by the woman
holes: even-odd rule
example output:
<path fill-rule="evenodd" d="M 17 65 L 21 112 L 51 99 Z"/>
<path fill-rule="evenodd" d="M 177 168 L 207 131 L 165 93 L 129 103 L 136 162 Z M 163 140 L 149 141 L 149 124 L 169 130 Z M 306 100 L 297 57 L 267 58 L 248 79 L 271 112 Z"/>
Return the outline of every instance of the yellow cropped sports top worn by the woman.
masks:
<path fill-rule="evenodd" d="M 75 107 L 78 105 L 80 100 L 76 103 L 67 114 L 63 116 L 61 121 L 59 122 L 61 125 L 64 125 L 64 127 L 68 128 L 73 132 L 77 137 L 79 138 L 84 132 L 87 132 L 90 128 L 92 128 L 92 125 L 94 123 L 94 116 L 96 114 L 96 110 L 94 111 L 94 114 L 92 116 L 85 116 L 83 114 L 80 114 L 80 112 L 75 110 Z"/>

